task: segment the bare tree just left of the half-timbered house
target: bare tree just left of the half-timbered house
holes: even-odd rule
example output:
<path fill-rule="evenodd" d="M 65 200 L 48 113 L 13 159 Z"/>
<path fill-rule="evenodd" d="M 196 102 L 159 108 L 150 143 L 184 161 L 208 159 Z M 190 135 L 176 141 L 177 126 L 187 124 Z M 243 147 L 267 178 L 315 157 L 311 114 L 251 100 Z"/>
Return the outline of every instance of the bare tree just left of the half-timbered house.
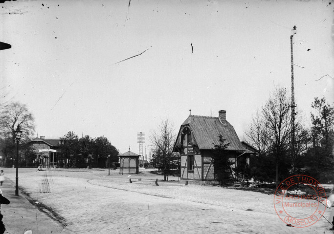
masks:
<path fill-rule="evenodd" d="M 161 124 L 150 134 L 152 150 L 156 152 L 154 163 L 161 168 L 166 181 L 166 176 L 169 175 L 172 161 L 175 154 L 173 146 L 176 140 L 176 134 L 173 124 L 168 118 L 161 120 Z"/>

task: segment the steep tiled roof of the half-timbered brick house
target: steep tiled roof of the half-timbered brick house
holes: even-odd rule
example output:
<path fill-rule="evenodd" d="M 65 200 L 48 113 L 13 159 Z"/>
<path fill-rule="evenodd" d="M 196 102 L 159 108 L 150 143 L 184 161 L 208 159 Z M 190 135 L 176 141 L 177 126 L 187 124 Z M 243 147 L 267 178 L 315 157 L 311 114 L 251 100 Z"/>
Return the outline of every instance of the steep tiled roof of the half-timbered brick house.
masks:
<path fill-rule="evenodd" d="M 230 143 L 226 150 L 245 151 L 233 126 L 227 121 L 222 123 L 219 117 L 190 115 L 182 125 L 188 124 L 202 150 L 211 150 L 214 148 L 214 144 L 219 144 L 219 135 L 221 134 L 223 139 L 226 139 L 225 143 Z"/>

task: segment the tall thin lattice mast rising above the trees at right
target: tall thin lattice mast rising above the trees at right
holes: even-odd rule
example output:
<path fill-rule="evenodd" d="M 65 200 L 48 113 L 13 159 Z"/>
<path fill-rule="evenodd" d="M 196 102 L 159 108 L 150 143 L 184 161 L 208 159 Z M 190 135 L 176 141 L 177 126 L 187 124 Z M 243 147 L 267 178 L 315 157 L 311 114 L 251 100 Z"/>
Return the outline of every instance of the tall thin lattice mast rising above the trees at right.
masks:
<path fill-rule="evenodd" d="M 295 121 L 295 102 L 294 102 L 294 80 L 293 80 L 293 36 L 297 33 L 296 26 L 293 26 L 292 35 L 290 36 L 290 46 L 291 46 L 291 153 L 292 156 L 295 155 L 295 144 L 296 144 L 296 129 L 294 125 Z"/>

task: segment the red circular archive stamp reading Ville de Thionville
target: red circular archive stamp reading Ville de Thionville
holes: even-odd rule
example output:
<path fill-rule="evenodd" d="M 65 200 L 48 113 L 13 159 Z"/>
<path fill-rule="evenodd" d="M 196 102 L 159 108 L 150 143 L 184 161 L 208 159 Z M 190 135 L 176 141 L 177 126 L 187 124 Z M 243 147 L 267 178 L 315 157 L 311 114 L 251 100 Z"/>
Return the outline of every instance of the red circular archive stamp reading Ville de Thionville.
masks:
<path fill-rule="evenodd" d="M 290 176 L 275 191 L 276 214 L 292 227 L 306 228 L 315 224 L 325 213 L 326 207 L 326 192 L 311 176 Z"/>

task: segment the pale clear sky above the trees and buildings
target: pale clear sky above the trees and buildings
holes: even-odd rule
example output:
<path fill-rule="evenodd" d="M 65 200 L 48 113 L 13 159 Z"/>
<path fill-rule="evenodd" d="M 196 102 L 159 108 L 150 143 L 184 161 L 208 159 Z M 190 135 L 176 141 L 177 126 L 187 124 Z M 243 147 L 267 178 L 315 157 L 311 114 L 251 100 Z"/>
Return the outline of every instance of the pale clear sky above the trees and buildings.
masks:
<path fill-rule="evenodd" d="M 0 51 L 1 92 L 27 105 L 36 136 L 103 135 L 120 153 L 129 146 L 138 153 L 142 131 L 149 155 L 149 136 L 161 120 L 168 118 L 177 132 L 191 109 L 213 117 L 226 110 L 243 140 L 270 92 L 277 86 L 290 92 L 294 25 L 298 110 L 309 122 L 315 97 L 334 102 L 333 0 L 18 0 L 0 6 L 0 41 L 12 45 Z"/>

